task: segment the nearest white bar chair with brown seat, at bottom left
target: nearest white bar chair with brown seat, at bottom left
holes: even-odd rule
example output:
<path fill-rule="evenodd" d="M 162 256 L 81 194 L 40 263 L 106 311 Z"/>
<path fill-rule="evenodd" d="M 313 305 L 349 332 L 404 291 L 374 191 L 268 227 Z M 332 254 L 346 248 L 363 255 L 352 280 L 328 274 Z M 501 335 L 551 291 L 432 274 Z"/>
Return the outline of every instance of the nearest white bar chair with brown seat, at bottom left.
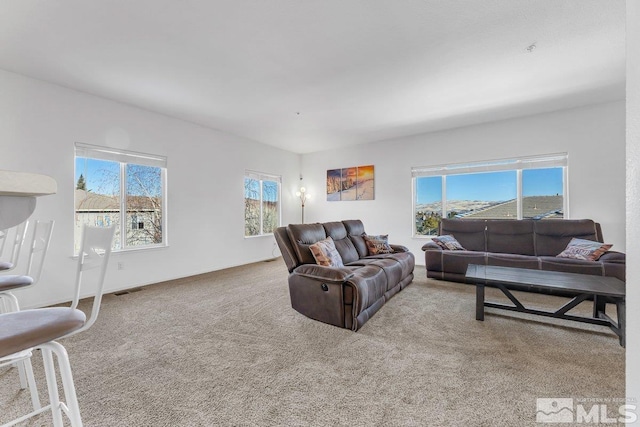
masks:
<path fill-rule="evenodd" d="M 82 426 L 69 357 L 57 340 L 85 331 L 96 321 L 102 302 L 113 234 L 113 227 L 84 227 L 71 307 L 37 308 L 0 314 L 0 366 L 30 359 L 34 350 L 41 350 L 49 392 L 48 405 L 6 422 L 1 427 L 13 426 L 47 410 L 52 413 L 55 427 L 62 427 L 63 413 L 73 427 Z M 88 319 L 77 308 L 81 287 L 84 286 L 94 290 Z M 60 399 L 58 392 L 54 354 L 58 360 L 65 402 Z"/>

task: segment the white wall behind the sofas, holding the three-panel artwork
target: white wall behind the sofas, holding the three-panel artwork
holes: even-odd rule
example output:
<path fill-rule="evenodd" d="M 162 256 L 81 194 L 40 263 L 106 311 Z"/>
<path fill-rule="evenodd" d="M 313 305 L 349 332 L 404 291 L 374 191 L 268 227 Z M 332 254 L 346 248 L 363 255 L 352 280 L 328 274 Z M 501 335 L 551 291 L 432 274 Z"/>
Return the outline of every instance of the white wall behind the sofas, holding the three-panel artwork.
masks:
<path fill-rule="evenodd" d="M 424 238 L 412 238 L 411 167 L 547 153 L 569 153 L 571 218 L 602 224 L 625 250 L 624 101 L 497 121 L 302 156 L 308 222 L 360 218 L 370 234 L 389 233 L 424 264 Z M 375 165 L 375 200 L 327 202 L 327 169 Z"/>

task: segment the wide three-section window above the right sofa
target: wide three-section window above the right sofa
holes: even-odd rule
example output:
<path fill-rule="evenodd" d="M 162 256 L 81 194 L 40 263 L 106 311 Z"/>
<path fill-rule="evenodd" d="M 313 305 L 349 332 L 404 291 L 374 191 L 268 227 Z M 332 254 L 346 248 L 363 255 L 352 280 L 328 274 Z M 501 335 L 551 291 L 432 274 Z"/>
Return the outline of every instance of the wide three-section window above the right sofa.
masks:
<path fill-rule="evenodd" d="M 414 235 L 440 219 L 547 219 L 566 215 L 567 155 L 412 168 Z"/>

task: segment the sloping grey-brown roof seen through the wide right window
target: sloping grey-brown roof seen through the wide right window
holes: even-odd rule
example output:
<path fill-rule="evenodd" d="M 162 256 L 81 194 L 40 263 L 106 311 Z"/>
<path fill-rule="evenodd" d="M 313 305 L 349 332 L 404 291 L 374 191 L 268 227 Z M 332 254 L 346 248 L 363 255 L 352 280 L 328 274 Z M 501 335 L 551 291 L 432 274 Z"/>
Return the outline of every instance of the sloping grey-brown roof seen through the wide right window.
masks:
<path fill-rule="evenodd" d="M 522 198 L 523 218 L 562 218 L 562 196 L 529 196 Z M 498 205 L 459 215 L 461 218 L 517 218 L 517 202 L 509 200 Z"/>

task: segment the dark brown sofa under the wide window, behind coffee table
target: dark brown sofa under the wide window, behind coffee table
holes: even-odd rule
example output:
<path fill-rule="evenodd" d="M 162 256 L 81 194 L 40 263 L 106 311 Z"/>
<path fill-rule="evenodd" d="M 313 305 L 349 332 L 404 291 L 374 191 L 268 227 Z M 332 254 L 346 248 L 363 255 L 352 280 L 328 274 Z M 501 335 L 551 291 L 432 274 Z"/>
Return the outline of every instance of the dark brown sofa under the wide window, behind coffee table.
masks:
<path fill-rule="evenodd" d="M 469 264 L 613 276 L 625 280 L 625 254 L 608 251 L 597 261 L 558 258 L 573 237 L 604 242 L 600 224 L 580 220 L 443 219 L 440 235 L 453 235 L 466 249 L 442 250 L 428 242 L 427 277 L 465 281 Z"/>

